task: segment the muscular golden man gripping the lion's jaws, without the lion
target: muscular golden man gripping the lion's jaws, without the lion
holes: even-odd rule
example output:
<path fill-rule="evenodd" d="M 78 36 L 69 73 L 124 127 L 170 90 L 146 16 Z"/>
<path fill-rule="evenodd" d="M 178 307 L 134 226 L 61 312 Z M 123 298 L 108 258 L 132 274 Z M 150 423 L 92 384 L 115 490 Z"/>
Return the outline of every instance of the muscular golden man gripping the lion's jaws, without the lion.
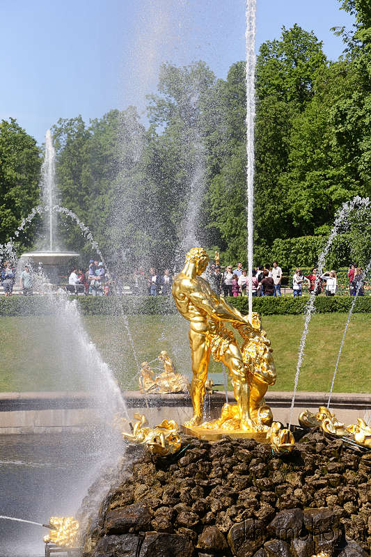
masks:
<path fill-rule="evenodd" d="M 223 362 L 232 378 L 237 400 L 241 427 L 249 430 L 254 423 L 249 411 L 248 368 L 241 350 L 229 329 L 228 322 L 236 329 L 252 329 L 248 318 L 220 298 L 200 275 L 205 272 L 209 258 L 203 248 L 192 248 L 186 256 L 184 269 L 173 282 L 175 305 L 182 316 L 190 322 L 189 345 L 191 347 L 193 379 L 191 398 L 194 416 L 185 425 L 200 425 L 203 416 L 203 398 L 210 355 Z"/>

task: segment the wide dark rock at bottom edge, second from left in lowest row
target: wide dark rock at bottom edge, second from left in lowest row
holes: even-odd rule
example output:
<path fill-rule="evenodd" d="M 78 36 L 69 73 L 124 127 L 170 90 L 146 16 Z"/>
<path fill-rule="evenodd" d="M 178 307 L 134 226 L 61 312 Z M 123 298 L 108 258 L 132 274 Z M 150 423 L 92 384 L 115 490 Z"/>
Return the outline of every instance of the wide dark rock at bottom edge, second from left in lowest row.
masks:
<path fill-rule="evenodd" d="M 139 557 L 191 557 L 193 552 L 194 545 L 184 535 L 148 532 Z"/>

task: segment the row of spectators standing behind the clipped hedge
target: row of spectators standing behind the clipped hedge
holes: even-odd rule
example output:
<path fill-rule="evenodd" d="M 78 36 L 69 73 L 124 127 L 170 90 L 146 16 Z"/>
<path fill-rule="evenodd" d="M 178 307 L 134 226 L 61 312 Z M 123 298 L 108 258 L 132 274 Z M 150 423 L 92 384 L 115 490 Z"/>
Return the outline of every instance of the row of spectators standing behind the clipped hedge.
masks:
<path fill-rule="evenodd" d="M 207 267 L 206 278 L 218 295 L 223 296 L 247 296 L 248 295 L 248 274 L 243 268 L 242 262 L 238 262 L 235 269 L 232 265 L 223 267 L 221 265 L 210 265 Z M 363 269 L 357 265 L 350 265 L 348 271 L 349 295 L 363 296 L 365 276 Z M 10 261 L 4 261 L 1 267 L 0 283 L 6 296 L 13 292 L 15 284 L 15 267 Z M 258 266 L 252 272 L 252 295 L 281 297 L 281 283 L 283 272 L 277 261 L 273 265 Z M 33 274 L 29 265 L 24 266 L 24 270 L 19 276 L 20 287 L 24 295 L 31 295 L 33 292 Z M 82 267 L 72 267 L 68 276 L 68 285 L 65 289 L 71 294 L 84 294 L 92 296 L 111 295 L 123 291 L 123 281 L 114 276 L 110 276 L 102 261 L 90 259 L 86 271 Z M 159 273 L 155 267 L 150 268 L 146 273 L 143 267 L 129 277 L 129 288 L 136 295 L 171 295 L 173 278 L 169 269 Z M 308 285 L 308 291 L 316 296 L 322 291 L 326 296 L 335 296 L 338 290 L 338 278 L 334 270 L 326 271 L 320 276 L 317 268 L 313 267 L 308 275 L 303 275 L 301 269 L 295 269 L 292 276 L 292 295 L 300 297 L 303 293 L 303 286 Z"/>

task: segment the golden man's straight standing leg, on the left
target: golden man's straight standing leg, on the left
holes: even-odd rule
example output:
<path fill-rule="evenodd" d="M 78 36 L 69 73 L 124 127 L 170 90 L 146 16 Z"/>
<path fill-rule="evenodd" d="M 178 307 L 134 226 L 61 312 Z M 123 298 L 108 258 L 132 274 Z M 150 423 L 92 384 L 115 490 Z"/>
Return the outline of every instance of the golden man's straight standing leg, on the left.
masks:
<path fill-rule="evenodd" d="M 207 368 L 210 361 L 210 347 L 204 334 L 189 329 L 189 345 L 192 356 L 192 382 L 191 398 L 194 407 L 194 416 L 191 421 L 184 425 L 191 427 L 199 425 L 203 421 L 203 398 L 205 396 L 205 382 L 207 379 Z"/>

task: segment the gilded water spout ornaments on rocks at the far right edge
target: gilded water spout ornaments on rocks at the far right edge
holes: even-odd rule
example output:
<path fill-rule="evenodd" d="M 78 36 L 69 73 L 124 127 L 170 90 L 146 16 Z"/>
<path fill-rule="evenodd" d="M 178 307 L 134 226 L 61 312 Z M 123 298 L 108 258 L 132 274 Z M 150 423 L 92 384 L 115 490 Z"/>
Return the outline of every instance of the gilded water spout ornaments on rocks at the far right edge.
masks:
<path fill-rule="evenodd" d="M 324 433 L 352 439 L 358 445 L 371 448 L 371 427 L 362 418 L 357 418 L 356 424 L 345 425 L 328 408 L 320 406 L 314 413 L 309 410 L 301 412 L 299 424 L 303 427 L 319 426 Z"/>

